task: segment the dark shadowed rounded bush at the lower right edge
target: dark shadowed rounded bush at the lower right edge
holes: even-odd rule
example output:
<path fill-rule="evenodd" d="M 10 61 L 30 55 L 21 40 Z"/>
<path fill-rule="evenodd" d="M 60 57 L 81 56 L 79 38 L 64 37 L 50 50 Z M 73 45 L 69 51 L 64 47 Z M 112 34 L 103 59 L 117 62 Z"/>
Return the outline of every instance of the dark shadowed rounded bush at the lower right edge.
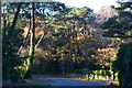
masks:
<path fill-rule="evenodd" d="M 119 73 L 119 81 L 122 86 L 131 85 L 132 75 L 132 43 L 122 44 L 118 53 L 118 59 L 113 62 L 113 67 L 117 68 Z"/>

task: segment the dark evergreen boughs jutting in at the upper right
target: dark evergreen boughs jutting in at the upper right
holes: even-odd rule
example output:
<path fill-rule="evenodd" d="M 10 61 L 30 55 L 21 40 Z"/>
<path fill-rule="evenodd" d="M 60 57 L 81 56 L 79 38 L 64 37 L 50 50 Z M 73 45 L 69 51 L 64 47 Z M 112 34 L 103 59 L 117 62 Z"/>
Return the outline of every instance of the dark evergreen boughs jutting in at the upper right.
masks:
<path fill-rule="evenodd" d="M 101 28 L 109 29 L 103 33 L 109 37 L 131 37 L 132 36 L 132 16 L 131 16 L 131 2 L 119 2 L 118 15 L 110 18 L 105 22 Z"/>

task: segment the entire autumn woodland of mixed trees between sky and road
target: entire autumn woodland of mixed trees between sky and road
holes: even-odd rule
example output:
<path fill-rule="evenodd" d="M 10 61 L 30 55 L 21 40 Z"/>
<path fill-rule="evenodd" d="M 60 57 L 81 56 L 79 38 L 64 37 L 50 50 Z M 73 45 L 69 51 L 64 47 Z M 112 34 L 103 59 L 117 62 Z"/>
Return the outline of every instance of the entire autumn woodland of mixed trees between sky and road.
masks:
<path fill-rule="evenodd" d="M 132 86 L 132 2 L 97 13 L 62 2 L 2 2 L 1 10 L 2 80 L 81 74 Z"/>

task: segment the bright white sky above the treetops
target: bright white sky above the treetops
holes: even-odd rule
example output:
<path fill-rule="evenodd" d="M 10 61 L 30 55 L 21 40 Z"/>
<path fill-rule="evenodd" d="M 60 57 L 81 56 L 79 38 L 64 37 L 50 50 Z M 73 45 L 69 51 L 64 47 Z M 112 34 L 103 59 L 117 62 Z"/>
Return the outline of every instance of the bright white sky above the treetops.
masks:
<path fill-rule="evenodd" d="M 117 0 L 58 0 L 65 3 L 67 7 L 88 7 L 97 12 L 101 7 L 116 4 Z"/>

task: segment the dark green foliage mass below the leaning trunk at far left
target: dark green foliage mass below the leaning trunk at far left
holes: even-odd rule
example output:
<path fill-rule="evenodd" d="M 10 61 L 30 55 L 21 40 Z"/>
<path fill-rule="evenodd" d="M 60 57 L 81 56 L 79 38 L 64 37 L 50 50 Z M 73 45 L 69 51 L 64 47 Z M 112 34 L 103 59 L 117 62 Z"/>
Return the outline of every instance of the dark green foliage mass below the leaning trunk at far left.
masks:
<path fill-rule="evenodd" d="M 12 80 L 16 80 L 20 77 L 20 73 L 19 70 L 15 69 L 15 67 L 22 64 L 22 59 L 20 59 L 19 56 L 16 55 L 18 50 L 22 44 L 22 42 L 18 42 L 20 41 L 19 36 L 21 35 L 21 33 L 19 29 L 11 29 L 10 26 L 2 30 L 3 30 L 2 38 L 4 38 L 2 41 L 3 79 L 11 78 Z M 14 30 L 14 32 L 10 33 L 11 30 Z"/>

